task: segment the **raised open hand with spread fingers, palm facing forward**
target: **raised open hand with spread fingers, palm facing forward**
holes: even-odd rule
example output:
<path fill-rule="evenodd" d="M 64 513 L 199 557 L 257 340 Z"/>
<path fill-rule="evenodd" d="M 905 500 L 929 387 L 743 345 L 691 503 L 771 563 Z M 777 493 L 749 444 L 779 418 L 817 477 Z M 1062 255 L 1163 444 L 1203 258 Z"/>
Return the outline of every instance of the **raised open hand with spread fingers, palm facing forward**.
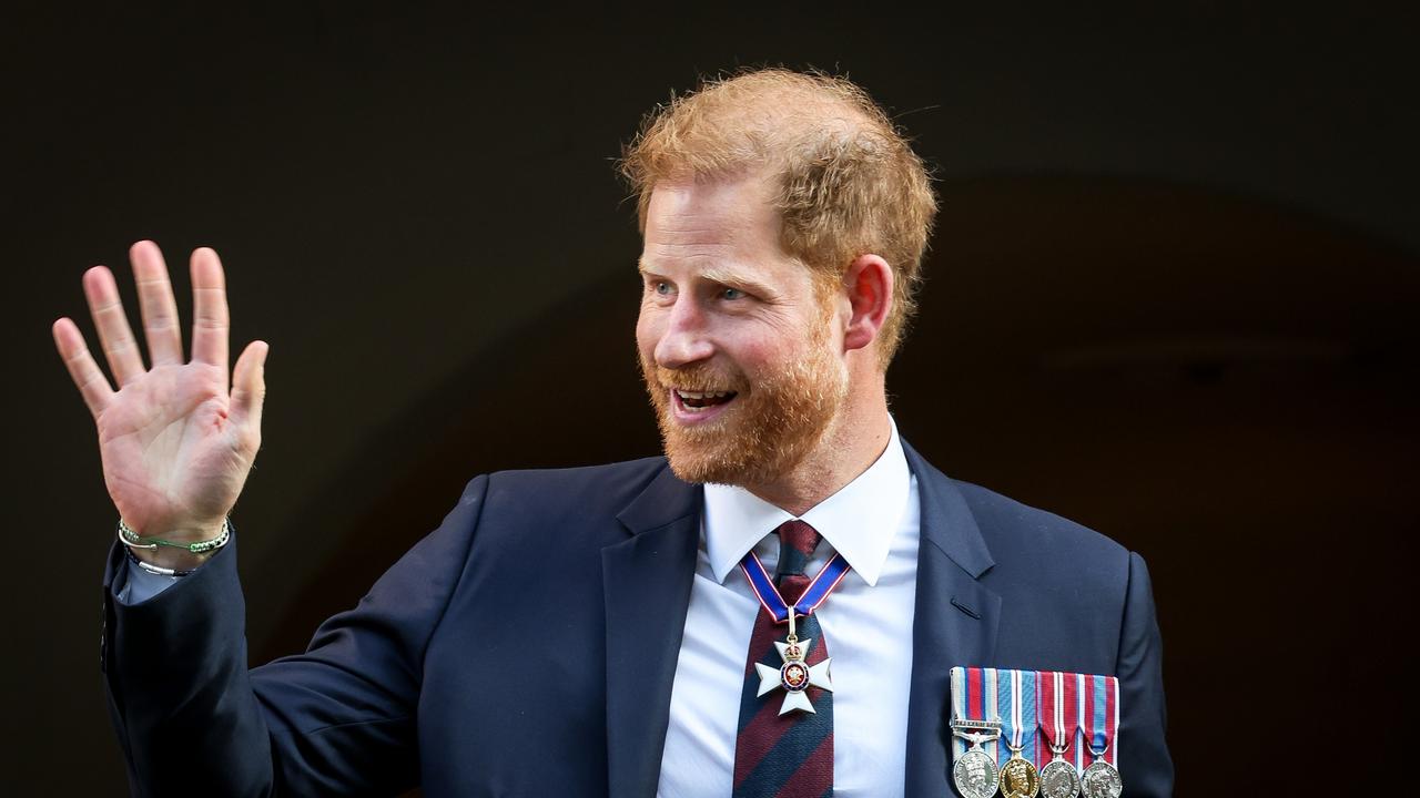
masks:
<path fill-rule="evenodd" d="M 118 389 L 74 321 L 54 322 L 54 344 L 98 426 L 104 481 L 121 517 L 143 535 L 210 538 L 261 444 L 267 345 L 247 345 L 229 390 L 226 284 L 217 253 L 200 248 L 192 254 L 192 359 L 185 362 L 162 253 L 139 241 L 129 256 L 151 368 L 102 266 L 84 274 L 84 294 Z"/>

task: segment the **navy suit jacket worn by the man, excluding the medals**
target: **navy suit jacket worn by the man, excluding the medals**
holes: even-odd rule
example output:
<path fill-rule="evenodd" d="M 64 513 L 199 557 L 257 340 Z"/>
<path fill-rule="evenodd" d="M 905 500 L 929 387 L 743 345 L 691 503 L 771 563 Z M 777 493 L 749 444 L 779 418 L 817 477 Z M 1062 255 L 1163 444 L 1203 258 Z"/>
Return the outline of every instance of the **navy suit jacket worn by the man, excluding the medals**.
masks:
<path fill-rule="evenodd" d="M 906 794 L 954 795 L 964 665 L 1118 674 L 1125 794 L 1169 795 L 1139 555 L 906 452 L 922 498 Z M 101 662 L 133 794 L 652 798 L 701 501 L 662 457 L 477 477 L 305 653 L 251 670 L 234 542 L 131 606 L 115 551 Z"/>

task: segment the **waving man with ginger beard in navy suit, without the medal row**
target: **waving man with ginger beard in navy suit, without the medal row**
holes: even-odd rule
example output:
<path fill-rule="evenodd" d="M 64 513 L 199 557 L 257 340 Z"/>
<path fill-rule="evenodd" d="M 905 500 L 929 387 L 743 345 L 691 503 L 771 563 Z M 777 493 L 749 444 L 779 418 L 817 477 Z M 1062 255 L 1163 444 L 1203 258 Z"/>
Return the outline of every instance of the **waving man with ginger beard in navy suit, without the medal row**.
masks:
<path fill-rule="evenodd" d="M 85 274 L 119 389 L 54 334 L 129 550 L 104 667 L 133 789 L 946 795 L 949 670 L 980 665 L 1116 673 L 1120 770 L 1169 794 L 1143 562 L 897 437 L 885 373 L 936 207 L 886 115 L 747 72 L 662 108 L 623 169 L 666 457 L 474 479 L 307 653 L 250 673 L 224 518 L 267 346 L 229 390 L 210 250 L 186 364 L 156 247 L 132 251 L 148 369 L 112 275 Z"/>

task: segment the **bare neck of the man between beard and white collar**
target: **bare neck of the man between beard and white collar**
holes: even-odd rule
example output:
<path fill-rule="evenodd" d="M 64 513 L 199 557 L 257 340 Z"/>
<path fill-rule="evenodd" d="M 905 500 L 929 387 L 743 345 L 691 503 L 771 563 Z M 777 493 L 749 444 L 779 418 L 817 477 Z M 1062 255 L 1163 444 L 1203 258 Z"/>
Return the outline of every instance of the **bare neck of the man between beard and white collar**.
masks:
<path fill-rule="evenodd" d="M 744 487 L 785 513 L 802 515 L 876 463 L 890 439 L 888 396 L 879 386 L 858 402 L 845 402 L 818 446 L 787 474 Z"/>

